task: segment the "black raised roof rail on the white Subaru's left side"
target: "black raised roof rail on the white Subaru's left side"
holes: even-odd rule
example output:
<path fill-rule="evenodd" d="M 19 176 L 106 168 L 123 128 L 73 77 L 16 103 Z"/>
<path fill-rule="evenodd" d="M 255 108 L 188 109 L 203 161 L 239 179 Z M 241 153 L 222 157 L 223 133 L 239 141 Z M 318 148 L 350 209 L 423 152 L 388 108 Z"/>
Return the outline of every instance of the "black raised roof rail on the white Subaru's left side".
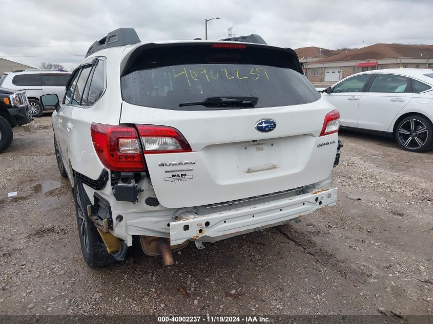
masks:
<path fill-rule="evenodd" d="M 106 48 L 137 44 L 140 42 L 134 28 L 118 28 L 109 32 L 107 36 L 96 40 L 87 50 L 86 57 Z"/>

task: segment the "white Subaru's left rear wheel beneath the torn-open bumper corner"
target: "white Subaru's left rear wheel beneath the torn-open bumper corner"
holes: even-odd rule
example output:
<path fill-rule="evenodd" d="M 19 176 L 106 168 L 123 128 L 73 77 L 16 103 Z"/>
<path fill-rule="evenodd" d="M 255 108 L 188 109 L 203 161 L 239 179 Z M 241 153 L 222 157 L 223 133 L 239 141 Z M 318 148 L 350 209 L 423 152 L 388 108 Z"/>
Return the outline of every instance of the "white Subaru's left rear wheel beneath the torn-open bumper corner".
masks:
<path fill-rule="evenodd" d="M 87 214 L 87 205 L 90 204 L 83 184 L 75 179 L 74 201 L 77 217 L 78 236 L 84 261 L 92 268 L 108 266 L 116 259 L 108 254 L 107 246 L 102 241 L 93 222 Z"/>

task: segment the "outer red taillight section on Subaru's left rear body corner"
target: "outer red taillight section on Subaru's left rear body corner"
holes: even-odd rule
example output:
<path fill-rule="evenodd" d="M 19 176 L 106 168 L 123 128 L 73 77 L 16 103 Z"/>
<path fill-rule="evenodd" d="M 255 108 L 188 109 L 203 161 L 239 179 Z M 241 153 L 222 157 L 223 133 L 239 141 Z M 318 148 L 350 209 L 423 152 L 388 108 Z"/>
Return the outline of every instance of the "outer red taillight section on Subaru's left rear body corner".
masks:
<path fill-rule="evenodd" d="M 134 127 L 92 123 L 90 134 L 99 160 L 109 170 L 146 171 Z"/>

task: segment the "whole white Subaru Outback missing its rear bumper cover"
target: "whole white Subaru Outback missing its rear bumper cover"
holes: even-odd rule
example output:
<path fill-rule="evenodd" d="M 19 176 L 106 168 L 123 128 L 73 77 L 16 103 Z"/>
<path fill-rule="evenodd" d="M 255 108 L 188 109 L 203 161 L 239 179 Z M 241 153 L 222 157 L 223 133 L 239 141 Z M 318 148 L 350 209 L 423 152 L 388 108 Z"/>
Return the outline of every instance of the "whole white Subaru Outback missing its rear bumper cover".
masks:
<path fill-rule="evenodd" d="M 258 37 L 260 38 L 260 37 Z M 261 38 L 260 38 L 261 39 Z M 89 266 L 285 224 L 336 204 L 339 113 L 292 49 L 232 41 L 96 41 L 54 94 L 54 147 Z"/>

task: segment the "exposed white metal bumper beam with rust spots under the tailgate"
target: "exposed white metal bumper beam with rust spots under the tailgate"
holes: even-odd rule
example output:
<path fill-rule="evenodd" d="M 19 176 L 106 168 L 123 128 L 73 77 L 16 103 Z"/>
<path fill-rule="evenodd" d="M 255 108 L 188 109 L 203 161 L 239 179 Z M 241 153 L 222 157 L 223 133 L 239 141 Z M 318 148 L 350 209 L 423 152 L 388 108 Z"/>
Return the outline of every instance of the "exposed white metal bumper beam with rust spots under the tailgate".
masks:
<path fill-rule="evenodd" d="M 337 188 L 332 188 L 200 216 L 184 211 L 178 215 L 179 221 L 170 223 L 170 244 L 181 244 L 187 240 L 216 242 L 281 225 L 317 208 L 334 206 L 336 202 Z"/>

